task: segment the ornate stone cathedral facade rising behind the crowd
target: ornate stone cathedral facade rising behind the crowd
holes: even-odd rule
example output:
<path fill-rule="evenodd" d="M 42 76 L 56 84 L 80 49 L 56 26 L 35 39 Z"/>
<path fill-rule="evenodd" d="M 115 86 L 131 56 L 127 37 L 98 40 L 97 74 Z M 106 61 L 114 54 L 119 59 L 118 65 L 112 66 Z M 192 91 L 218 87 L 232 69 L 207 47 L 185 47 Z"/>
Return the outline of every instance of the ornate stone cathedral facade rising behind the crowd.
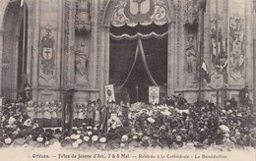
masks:
<path fill-rule="evenodd" d="M 255 3 L 4 0 L 1 95 L 16 100 L 29 93 L 44 102 L 72 92 L 77 102 L 104 100 L 104 85 L 113 83 L 139 90 L 160 85 L 165 94 L 181 93 L 189 102 L 215 102 L 211 76 L 218 73 L 222 102 L 238 98 L 245 85 L 255 101 Z"/>

